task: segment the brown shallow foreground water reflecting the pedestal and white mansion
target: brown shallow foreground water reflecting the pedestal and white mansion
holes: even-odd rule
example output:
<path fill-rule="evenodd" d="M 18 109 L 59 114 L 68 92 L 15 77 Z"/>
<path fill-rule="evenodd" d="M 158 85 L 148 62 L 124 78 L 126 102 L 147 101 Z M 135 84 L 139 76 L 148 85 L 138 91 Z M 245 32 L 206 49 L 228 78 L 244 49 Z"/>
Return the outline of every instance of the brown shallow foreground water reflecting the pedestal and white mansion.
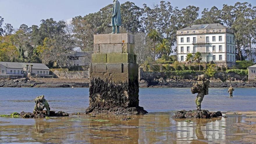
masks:
<path fill-rule="evenodd" d="M 228 118 L 186 122 L 183 119 L 173 120 L 172 115 L 151 113 L 132 116 L 128 121 L 122 121 L 123 116 L 81 115 L 33 122 L 25 119 L 28 122 L 22 125 L 13 125 L 11 119 L 1 118 L 0 143 L 230 143 L 241 138 L 234 134 L 249 132 L 233 127 L 247 116 L 231 115 Z M 6 123 L 8 121 L 10 123 Z"/>

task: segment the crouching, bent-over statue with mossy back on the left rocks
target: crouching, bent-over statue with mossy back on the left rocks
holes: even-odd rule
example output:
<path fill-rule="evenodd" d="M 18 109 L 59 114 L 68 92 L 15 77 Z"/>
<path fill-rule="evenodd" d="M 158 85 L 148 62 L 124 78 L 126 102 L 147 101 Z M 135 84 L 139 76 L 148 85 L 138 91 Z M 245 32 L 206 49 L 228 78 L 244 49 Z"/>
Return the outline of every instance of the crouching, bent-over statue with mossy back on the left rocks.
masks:
<path fill-rule="evenodd" d="M 47 100 L 45 99 L 44 95 L 36 97 L 34 101 L 35 101 L 35 108 L 34 108 L 33 114 L 41 113 L 45 108 L 47 111 L 47 115 L 48 116 L 50 115 L 50 106 Z"/>

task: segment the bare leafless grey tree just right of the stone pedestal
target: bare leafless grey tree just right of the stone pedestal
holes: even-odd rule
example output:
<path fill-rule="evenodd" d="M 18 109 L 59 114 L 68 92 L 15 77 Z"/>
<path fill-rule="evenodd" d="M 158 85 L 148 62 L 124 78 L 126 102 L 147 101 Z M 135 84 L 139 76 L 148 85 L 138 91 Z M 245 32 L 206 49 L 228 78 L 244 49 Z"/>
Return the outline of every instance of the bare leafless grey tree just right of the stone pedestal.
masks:
<path fill-rule="evenodd" d="M 137 55 L 137 63 L 141 66 L 149 57 L 153 56 L 152 42 L 147 37 L 146 33 L 135 34 L 135 49 L 134 52 Z"/>

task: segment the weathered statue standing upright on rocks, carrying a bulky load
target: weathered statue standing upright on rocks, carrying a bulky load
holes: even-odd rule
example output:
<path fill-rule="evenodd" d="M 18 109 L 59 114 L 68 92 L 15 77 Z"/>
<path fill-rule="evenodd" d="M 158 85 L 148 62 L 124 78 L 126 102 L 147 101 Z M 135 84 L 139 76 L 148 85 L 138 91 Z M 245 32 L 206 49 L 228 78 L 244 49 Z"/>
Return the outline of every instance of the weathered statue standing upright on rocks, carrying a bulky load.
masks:
<path fill-rule="evenodd" d="M 197 109 L 201 109 L 201 103 L 203 101 L 203 98 L 205 97 L 205 95 L 208 95 L 209 92 L 210 81 L 206 79 L 204 74 L 198 76 L 197 80 L 198 81 L 196 83 L 193 83 L 191 92 L 193 94 L 198 93 L 195 99 L 195 104 Z"/>

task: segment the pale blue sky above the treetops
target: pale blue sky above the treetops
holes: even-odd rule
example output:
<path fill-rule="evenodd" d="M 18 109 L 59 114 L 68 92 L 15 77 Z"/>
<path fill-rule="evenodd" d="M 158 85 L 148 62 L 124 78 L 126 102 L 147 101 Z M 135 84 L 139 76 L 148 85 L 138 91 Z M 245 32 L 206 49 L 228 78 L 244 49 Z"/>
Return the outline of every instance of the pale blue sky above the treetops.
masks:
<path fill-rule="evenodd" d="M 124 3 L 127 0 L 119 0 Z M 137 6 L 142 7 L 143 3 L 152 6 L 153 3 L 159 3 L 160 0 L 129 0 Z M 198 6 L 200 12 L 204 8 L 216 6 L 222 8 L 223 4 L 234 5 L 237 1 L 245 0 L 166 0 L 179 9 L 188 5 Z M 19 28 L 21 24 L 32 26 L 39 25 L 41 19 L 54 18 L 54 20 L 67 20 L 72 17 L 95 13 L 100 8 L 112 3 L 112 0 L 0 0 L 0 16 L 4 18 L 4 23 L 10 23 L 14 28 Z M 246 2 L 256 6 L 255 0 Z"/>

